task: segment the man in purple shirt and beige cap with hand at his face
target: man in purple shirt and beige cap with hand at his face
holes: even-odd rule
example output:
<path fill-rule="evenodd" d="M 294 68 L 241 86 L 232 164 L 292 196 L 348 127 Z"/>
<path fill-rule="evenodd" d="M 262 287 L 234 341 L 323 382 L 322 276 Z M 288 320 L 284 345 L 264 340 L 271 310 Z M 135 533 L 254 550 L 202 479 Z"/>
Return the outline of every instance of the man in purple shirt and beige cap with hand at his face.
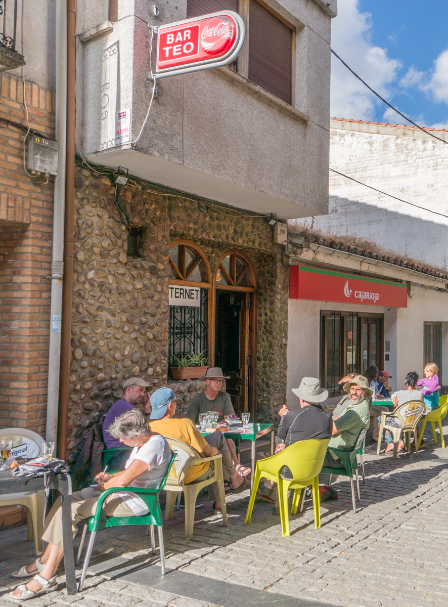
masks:
<path fill-rule="evenodd" d="M 115 418 L 120 417 L 126 411 L 135 409 L 137 405 L 143 404 L 143 413 L 149 415 L 151 413 L 151 401 L 149 400 L 149 393 L 146 392 L 146 388 L 151 384 L 144 381 L 141 378 L 127 379 L 123 384 L 123 398 L 115 402 L 109 411 L 106 413 L 106 417 L 103 422 L 103 440 L 106 445 L 106 449 L 120 448 L 117 454 L 109 460 L 110 470 L 123 470 L 124 464 L 129 457 L 129 451 L 123 449 L 123 443 L 117 438 L 114 438 L 107 430 L 115 421 Z"/>

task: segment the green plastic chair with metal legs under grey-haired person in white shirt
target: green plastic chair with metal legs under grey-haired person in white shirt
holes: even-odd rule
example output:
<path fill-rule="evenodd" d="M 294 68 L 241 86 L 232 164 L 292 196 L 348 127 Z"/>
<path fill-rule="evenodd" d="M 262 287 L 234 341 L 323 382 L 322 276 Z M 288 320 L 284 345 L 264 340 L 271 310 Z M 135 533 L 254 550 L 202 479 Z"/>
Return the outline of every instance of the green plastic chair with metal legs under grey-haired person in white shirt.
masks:
<path fill-rule="evenodd" d="M 148 514 L 141 515 L 140 517 L 106 517 L 103 514 L 103 502 L 108 495 L 116 493 L 117 491 L 126 491 L 126 487 L 114 487 L 113 489 L 107 489 L 101 493 L 98 497 L 97 509 L 95 515 L 89 518 L 87 523 L 84 523 L 83 535 L 81 536 L 80 548 L 78 549 L 78 556 L 76 557 L 76 565 L 80 561 L 81 551 L 83 550 L 84 539 L 86 538 L 87 526 L 89 527 L 90 539 L 89 545 L 87 546 L 86 556 L 84 557 L 83 571 L 81 572 L 80 584 L 78 592 L 81 592 L 84 586 L 84 579 L 86 578 L 87 568 L 89 566 L 90 555 L 92 554 L 93 542 L 95 541 L 95 535 L 97 531 L 106 529 L 106 527 L 120 527 L 125 525 L 148 525 L 148 533 L 151 532 L 151 549 L 152 554 L 155 553 L 155 538 L 154 538 L 154 525 L 157 525 L 158 532 L 158 546 L 160 549 L 160 564 L 162 575 L 165 575 L 165 549 L 163 546 L 163 531 L 162 531 L 162 518 L 160 511 L 160 504 L 158 502 L 158 495 L 165 487 L 166 479 L 168 478 L 171 466 L 174 463 L 175 453 L 172 453 L 168 470 L 165 478 L 161 480 L 157 487 L 129 487 L 132 493 L 138 493 L 141 499 L 148 506 Z"/>

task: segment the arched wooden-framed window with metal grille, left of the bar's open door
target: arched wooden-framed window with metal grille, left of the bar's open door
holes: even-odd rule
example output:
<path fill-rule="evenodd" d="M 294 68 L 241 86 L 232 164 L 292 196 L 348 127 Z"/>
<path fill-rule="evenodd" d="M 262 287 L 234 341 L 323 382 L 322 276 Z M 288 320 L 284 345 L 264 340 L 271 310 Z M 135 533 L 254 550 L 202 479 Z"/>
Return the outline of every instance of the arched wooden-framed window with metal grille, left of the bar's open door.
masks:
<path fill-rule="evenodd" d="M 205 254 L 199 246 L 185 241 L 175 241 L 169 250 L 170 285 L 199 289 L 199 305 L 188 305 L 182 294 L 191 289 L 181 289 L 174 304 L 169 305 L 168 360 L 175 365 L 175 356 L 204 353 L 208 356 L 208 314 L 210 270 Z"/>

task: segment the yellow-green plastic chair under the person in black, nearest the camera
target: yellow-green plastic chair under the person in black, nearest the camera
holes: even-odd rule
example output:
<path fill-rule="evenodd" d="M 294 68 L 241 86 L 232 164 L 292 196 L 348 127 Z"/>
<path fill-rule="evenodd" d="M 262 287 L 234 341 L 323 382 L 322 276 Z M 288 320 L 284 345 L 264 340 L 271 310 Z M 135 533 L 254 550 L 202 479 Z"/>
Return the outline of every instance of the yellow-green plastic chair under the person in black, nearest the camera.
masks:
<path fill-rule="evenodd" d="M 259 459 L 255 468 L 254 484 L 251 491 L 249 506 L 247 509 L 246 520 L 244 524 L 248 525 L 251 520 L 252 510 L 256 498 L 258 485 L 261 478 L 267 478 L 277 483 L 280 504 L 280 521 L 282 523 L 282 535 L 290 535 L 290 521 L 288 518 L 288 490 L 294 489 L 293 504 L 291 514 L 296 514 L 299 505 L 300 492 L 311 485 L 313 493 L 314 506 L 314 526 L 316 529 L 321 527 L 321 511 L 319 504 L 319 472 L 324 464 L 325 452 L 327 451 L 330 439 L 308 441 L 299 441 L 283 449 L 277 455 L 266 459 Z M 293 480 L 283 478 L 280 470 L 283 466 L 288 466 L 293 474 Z M 300 504 L 300 511 L 303 507 Z"/>

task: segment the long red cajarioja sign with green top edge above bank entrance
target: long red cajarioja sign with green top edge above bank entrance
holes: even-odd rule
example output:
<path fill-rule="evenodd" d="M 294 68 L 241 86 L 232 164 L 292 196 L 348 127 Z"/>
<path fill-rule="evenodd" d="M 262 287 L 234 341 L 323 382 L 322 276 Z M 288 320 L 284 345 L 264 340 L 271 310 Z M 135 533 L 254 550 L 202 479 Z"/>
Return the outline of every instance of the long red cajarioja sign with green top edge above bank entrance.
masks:
<path fill-rule="evenodd" d="M 407 285 L 294 265 L 290 266 L 290 299 L 407 308 Z"/>

